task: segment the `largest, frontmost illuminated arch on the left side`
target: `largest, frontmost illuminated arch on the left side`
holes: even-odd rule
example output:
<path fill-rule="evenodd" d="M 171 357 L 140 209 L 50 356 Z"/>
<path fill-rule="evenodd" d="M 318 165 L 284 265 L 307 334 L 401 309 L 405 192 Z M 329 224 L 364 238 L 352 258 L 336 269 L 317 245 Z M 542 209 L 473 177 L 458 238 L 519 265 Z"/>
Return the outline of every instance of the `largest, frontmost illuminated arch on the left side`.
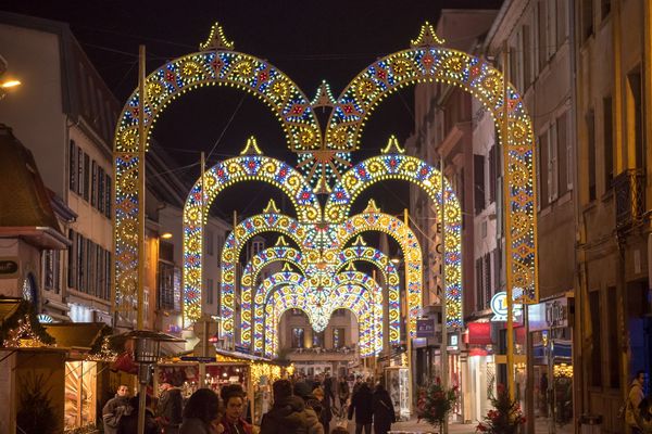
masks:
<path fill-rule="evenodd" d="M 231 86 L 258 97 L 280 120 L 291 150 L 315 149 L 322 143 L 317 118 L 310 100 L 277 67 L 249 54 L 233 51 L 215 24 L 201 52 L 167 62 L 146 78 L 143 132 L 149 141 L 152 127 L 174 99 L 203 86 Z M 115 183 L 115 301 L 118 315 L 136 308 L 138 280 L 138 192 L 140 95 L 135 90 L 118 117 L 114 135 Z M 315 216 L 317 217 L 317 216 Z M 302 218 L 300 216 L 299 218 Z M 199 294 L 190 294 L 191 298 Z M 189 317 L 196 317 L 197 306 Z"/>

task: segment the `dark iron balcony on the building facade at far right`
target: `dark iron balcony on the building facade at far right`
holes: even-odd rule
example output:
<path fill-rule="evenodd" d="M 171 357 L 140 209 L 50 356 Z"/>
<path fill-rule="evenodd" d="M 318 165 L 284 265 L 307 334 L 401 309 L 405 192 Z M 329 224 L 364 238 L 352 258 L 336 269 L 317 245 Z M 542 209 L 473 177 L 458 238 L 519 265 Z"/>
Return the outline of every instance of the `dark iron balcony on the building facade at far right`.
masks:
<path fill-rule="evenodd" d="M 627 169 L 613 180 L 616 200 L 616 229 L 622 231 L 642 222 L 645 212 L 645 174 Z"/>

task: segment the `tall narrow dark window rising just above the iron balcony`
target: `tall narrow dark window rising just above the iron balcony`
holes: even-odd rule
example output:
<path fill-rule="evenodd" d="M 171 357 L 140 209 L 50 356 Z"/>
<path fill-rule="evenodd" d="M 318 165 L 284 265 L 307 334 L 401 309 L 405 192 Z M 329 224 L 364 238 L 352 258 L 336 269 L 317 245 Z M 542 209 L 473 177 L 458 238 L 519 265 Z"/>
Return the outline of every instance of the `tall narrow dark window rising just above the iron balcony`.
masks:
<path fill-rule="evenodd" d="M 643 102 L 641 72 L 636 68 L 627 74 L 627 137 L 628 144 L 634 145 L 637 168 L 645 168 L 645 141 L 643 140 Z"/>

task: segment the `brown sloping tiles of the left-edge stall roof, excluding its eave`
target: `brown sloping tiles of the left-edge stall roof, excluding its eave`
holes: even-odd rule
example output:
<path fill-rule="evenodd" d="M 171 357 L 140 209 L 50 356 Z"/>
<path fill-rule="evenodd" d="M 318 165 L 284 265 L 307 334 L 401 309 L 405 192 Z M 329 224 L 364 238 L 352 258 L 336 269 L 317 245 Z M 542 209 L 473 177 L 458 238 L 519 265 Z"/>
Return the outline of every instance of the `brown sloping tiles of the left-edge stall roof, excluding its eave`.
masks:
<path fill-rule="evenodd" d="M 0 124 L 0 227 L 61 228 L 32 152 Z"/>

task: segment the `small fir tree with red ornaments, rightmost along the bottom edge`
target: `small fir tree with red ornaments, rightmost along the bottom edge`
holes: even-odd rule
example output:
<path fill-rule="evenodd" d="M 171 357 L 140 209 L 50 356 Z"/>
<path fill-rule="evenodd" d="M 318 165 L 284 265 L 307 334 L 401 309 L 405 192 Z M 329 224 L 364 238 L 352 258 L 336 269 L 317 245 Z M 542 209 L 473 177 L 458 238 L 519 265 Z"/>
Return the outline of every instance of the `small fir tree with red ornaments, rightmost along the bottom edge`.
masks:
<path fill-rule="evenodd" d="M 476 426 L 476 433 L 487 434 L 515 434 L 525 423 L 525 417 L 517 401 L 510 398 L 505 386 L 499 384 L 497 395 L 491 396 L 493 409 L 487 412 Z"/>

